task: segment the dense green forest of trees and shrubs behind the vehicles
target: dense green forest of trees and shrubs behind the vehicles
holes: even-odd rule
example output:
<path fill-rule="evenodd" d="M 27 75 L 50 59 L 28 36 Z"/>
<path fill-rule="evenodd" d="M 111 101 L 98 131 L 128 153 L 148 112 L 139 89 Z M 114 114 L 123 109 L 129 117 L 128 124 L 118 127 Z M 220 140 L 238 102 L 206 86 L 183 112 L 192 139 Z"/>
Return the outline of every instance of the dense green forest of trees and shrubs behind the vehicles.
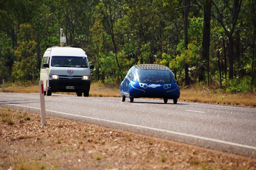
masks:
<path fill-rule="evenodd" d="M 38 81 L 46 45 L 59 44 L 63 28 L 96 66 L 93 81 L 120 83 L 131 66 L 154 63 L 180 85 L 254 91 L 255 8 L 256 0 L 0 0 L 0 78 Z"/>

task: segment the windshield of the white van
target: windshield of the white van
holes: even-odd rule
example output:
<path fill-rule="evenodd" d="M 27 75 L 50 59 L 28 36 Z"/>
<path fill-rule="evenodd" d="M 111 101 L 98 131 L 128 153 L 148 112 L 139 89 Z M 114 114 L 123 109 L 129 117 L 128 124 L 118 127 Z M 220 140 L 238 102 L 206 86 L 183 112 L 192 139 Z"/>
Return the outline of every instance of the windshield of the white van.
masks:
<path fill-rule="evenodd" d="M 86 57 L 74 56 L 52 56 L 52 67 L 81 67 L 87 68 L 88 63 Z"/>

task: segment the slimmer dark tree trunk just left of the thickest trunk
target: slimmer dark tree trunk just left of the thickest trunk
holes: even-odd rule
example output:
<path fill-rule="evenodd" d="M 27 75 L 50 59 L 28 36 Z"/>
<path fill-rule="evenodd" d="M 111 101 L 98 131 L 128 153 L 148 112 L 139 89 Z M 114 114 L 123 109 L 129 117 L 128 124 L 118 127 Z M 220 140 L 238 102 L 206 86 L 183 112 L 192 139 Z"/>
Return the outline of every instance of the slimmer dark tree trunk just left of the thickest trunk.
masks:
<path fill-rule="evenodd" d="M 190 11 L 190 0 L 184 0 L 184 45 L 188 49 L 188 13 Z M 185 86 L 190 85 L 190 78 L 188 75 L 189 65 L 185 62 Z"/>

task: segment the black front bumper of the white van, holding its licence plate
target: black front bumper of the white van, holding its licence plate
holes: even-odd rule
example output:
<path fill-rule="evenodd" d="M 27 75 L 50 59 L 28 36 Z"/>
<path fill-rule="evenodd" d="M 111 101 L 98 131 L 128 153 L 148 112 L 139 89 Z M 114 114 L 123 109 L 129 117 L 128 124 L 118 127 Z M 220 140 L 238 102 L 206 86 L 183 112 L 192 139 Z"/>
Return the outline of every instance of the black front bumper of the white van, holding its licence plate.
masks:
<path fill-rule="evenodd" d="M 49 80 L 49 90 L 51 92 L 89 92 L 90 84 L 90 80 L 55 79 Z"/>

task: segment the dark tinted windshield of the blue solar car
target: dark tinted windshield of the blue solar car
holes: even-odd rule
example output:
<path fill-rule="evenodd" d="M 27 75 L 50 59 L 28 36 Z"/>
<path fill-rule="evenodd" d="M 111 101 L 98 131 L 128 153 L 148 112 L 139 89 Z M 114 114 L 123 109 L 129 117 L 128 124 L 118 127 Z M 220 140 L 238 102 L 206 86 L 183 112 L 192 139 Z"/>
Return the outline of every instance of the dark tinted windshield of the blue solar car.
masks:
<path fill-rule="evenodd" d="M 169 70 L 147 70 L 138 69 L 139 82 L 145 83 L 171 83 Z"/>

